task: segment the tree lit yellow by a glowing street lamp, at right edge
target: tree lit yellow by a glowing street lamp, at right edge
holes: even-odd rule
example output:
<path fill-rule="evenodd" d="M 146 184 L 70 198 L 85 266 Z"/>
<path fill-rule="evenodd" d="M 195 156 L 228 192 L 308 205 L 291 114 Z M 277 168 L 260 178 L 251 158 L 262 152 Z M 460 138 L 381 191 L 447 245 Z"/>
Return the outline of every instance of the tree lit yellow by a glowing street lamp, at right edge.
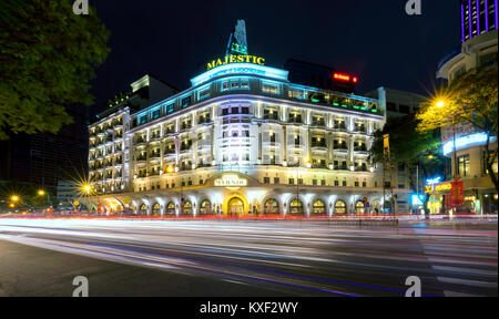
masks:
<path fill-rule="evenodd" d="M 440 92 L 441 96 L 424 103 L 418 114 L 420 123 L 417 128 L 419 132 L 428 132 L 437 127 L 464 123 L 473 127 L 475 131 L 486 133 L 485 164 L 490 179 L 499 192 L 497 172 L 493 171 L 493 164 L 498 158 L 498 147 L 495 151 L 490 148 L 490 138 L 497 137 L 497 65 L 495 65 L 472 69 L 454 80 Z M 440 104 L 437 101 L 440 101 Z"/>

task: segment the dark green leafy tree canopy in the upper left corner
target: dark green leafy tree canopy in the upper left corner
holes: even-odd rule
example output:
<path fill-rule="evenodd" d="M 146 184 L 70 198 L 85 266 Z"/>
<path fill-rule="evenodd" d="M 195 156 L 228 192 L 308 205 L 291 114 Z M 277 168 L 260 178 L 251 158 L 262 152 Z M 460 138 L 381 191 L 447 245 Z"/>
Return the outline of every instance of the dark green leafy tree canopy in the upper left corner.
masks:
<path fill-rule="evenodd" d="M 110 49 L 95 10 L 73 1 L 0 1 L 0 140 L 57 133 L 72 122 L 65 106 L 93 103 L 94 69 Z"/>

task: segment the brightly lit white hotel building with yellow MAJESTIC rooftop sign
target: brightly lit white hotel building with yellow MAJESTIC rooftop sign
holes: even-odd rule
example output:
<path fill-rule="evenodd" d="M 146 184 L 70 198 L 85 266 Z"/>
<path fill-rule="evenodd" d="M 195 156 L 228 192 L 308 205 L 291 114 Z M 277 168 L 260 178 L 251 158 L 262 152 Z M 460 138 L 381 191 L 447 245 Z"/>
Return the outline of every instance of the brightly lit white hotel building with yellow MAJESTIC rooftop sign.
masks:
<path fill-rule="evenodd" d="M 264 64 L 247 54 L 215 59 L 187 90 L 91 124 L 94 207 L 319 216 L 389 206 L 368 161 L 385 121 L 378 100 L 292 83 L 287 70 Z"/>

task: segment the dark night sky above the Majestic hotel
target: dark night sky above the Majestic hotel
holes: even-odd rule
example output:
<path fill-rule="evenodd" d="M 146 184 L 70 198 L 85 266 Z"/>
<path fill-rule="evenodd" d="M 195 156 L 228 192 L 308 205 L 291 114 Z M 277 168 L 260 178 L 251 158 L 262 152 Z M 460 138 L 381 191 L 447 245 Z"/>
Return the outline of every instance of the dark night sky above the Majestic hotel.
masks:
<path fill-rule="evenodd" d="M 93 81 L 91 114 L 144 74 L 189 88 L 225 54 L 237 19 L 246 21 L 249 54 L 266 65 L 294 58 L 358 75 L 360 93 L 378 86 L 425 93 L 438 61 L 459 44 L 460 22 L 459 1 L 421 1 L 422 14 L 407 16 L 406 0 L 90 0 L 112 49 Z"/>

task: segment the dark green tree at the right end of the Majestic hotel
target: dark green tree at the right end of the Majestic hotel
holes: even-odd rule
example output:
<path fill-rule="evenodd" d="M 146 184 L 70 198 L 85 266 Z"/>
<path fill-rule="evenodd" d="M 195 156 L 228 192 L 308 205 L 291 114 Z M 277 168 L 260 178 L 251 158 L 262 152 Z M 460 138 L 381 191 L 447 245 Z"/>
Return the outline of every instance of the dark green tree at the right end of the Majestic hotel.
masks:
<path fill-rule="evenodd" d="M 399 117 L 389 117 L 383 131 L 375 132 L 375 140 L 370 148 L 369 158 L 374 163 L 383 163 L 383 135 L 389 134 L 390 138 L 390 158 L 391 165 L 406 164 L 409 167 L 418 166 L 422 178 L 444 175 L 449 160 L 440 155 L 441 141 L 439 130 L 419 133 L 416 131 L 419 121 L 416 114 L 409 114 Z M 413 177 L 413 176 L 410 176 Z M 411 186 L 416 189 L 417 185 L 411 178 Z M 427 194 L 424 200 L 425 210 L 430 194 Z"/>

